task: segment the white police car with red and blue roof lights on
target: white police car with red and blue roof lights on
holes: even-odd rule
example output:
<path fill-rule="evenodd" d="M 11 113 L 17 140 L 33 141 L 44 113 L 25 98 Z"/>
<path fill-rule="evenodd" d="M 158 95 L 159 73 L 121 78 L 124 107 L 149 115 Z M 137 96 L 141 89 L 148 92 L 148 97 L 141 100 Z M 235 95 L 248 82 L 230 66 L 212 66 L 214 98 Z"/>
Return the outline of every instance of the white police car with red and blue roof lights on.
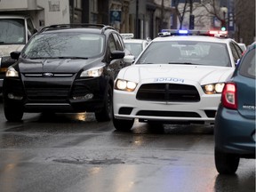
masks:
<path fill-rule="evenodd" d="M 113 104 L 117 130 L 132 129 L 135 118 L 157 124 L 214 123 L 223 85 L 242 50 L 230 38 L 213 37 L 222 33 L 193 33 L 197 36 L 159 33 L 132 66 L 119 71 Z"/>

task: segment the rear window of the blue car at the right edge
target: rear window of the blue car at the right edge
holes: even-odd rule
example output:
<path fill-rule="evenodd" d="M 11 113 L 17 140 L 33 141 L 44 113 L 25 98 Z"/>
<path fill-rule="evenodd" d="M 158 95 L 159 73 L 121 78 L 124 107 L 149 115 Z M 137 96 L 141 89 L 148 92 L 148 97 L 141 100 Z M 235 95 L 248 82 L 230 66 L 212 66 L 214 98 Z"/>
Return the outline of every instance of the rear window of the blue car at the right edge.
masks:
<path fill-rule="evenodd" d="M 240 63 L 240 74 L 242 76 L 255 78 L 255 54 L 255 49 L 252 49 L 244 55 L 244 60 Z"/>

